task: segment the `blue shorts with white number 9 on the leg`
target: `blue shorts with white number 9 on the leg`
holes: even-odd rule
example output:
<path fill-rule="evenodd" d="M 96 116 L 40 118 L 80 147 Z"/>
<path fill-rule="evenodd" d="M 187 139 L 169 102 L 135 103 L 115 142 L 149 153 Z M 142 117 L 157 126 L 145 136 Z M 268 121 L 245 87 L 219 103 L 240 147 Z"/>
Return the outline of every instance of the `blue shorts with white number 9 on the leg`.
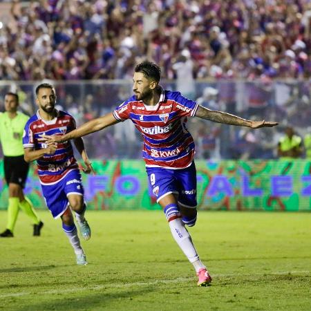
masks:
<path fill-rule="evenodd" d="M 196 165 L 194 162 L 186 169 L 164 169 L 146 167 L 149 184 L 159 202 L 167 194 L 178 194 L 178 203 L 184 207 L 195 208 Z"/>

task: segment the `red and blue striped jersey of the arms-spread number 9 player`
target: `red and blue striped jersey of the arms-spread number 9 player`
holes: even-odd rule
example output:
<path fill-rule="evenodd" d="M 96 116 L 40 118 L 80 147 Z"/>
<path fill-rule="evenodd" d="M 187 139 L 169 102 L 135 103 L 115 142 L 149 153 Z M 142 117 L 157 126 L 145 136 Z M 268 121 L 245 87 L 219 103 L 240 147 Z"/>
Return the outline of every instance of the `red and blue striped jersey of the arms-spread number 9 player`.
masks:
<path fill-rule="evenodd" d="M 133 95 L 113 111 L 115 119 L 131 119 L 144 138 L 142 157 L 147 167 L 183 169 L 194 159 L 194 139 L 187 130 L 187 117 L 194 117 L 198 104 L 179 92 L 162 90 L 156 106 L 147 106 Z"/>

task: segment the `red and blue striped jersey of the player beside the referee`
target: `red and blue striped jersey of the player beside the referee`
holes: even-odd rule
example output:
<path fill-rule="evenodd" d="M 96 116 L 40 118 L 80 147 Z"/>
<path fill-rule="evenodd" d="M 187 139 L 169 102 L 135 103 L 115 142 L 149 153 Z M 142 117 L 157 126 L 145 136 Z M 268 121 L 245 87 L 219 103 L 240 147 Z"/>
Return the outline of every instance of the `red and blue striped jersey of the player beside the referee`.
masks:
<path fill-rule="evenodd" d="M 64 135 L 73 131 L 75 127 L 75 119 L 69 113 L 57 111 L 57 117 L 46 121 L 41 119 L 38 111 L 26 123 L 23 132 L 23 148 L 43 149 L 46 145 L 38 142 L 42 134 Z M 70 141 L 57 143 L 55 153 L 44 155 L 37 160 L 37 165 L 40 182 L 43 185 L 51 185 L 61 180 L 72 169 L 78 169 Z"/>

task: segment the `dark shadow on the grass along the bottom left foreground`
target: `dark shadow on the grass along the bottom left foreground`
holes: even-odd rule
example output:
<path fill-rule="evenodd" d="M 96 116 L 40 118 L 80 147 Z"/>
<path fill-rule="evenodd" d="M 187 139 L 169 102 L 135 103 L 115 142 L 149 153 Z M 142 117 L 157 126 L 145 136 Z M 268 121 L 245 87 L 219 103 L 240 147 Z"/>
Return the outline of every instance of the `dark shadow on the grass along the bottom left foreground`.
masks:
<path fill-rule="evenodd" d="M 138 301 L 135 301 L 135 297 L 143 296 L 149 292 L 154 292 L 154 287 L 147 287 L 135 290 L 126 290 L 124 292 L 120 292 L 120 289 L 116 289 L 116 292 L 104 292 L 102 290 L 100 293 L 92 294 L 89 292 L 88 294 L 80 293 L 79 296 L 77 294 L 72 293 L 70 296 L 68 294 L 64 294 L 63 297 L 59 297 L 55 299 L 55 296 L 50 296 L 49 301 L 36 301 L 35 303 L 28 302 L 27 305 L 23 307 L 17 308 L 18 311 L 26 311 L 26 310 L 93 310 L 99 308 L 105 308 L 111 303 L 120 303 L 124 306 L 124 308 L 117 310 L 126 310 L 126 306 L 130 303 L 135 303 L 137 310 Z"/>

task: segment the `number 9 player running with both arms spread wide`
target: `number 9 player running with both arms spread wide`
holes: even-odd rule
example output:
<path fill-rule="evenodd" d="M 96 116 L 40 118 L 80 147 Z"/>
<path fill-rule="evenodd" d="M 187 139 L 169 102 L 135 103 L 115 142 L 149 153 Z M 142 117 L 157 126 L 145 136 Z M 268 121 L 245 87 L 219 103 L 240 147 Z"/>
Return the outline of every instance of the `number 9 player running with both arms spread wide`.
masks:
<path fill-rule="evenodd" d="M 146 162 L 149 182 L 157 202 L 164 210 L 171 234 L 194 265 L 198 286 L 209 285 L 211 276 L 200 261 L 185 225 L 196 224 L 196 167 L 194 140 L 187 131 L 187 117 L 200 117 L 218 123 L 248 126 L 258 129 L 275 126 L 276 122 L 250 121 L 206 109 L 187 100 L 179 92 L 165 91 L 159 85 L 160 68 L 151 62 L 135 67 L 133 92 L 135 95 L 115 111 L 91 120 L 66 135 L 43 135 L 48 143 L 70 139 L 100 131 L 126 119 L 131 119 L 144 138 L 142 157 Z"/>

